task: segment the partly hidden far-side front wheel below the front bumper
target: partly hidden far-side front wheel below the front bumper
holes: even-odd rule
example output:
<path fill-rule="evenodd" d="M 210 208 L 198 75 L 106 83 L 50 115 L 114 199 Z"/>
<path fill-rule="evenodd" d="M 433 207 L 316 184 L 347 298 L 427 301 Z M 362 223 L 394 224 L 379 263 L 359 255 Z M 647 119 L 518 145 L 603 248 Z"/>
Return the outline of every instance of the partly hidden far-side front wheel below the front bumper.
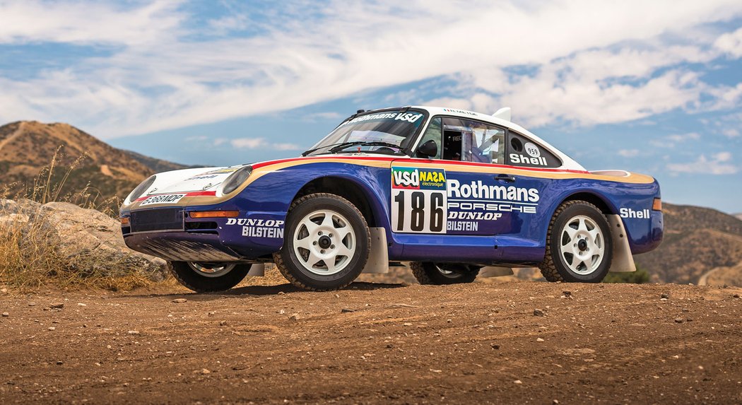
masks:
<path fill-rule="evenodd" d="M 240 263 L 168 262 L 171 274 L 194 292 L 220 292 L 237 286 L 252 265 Z"/>

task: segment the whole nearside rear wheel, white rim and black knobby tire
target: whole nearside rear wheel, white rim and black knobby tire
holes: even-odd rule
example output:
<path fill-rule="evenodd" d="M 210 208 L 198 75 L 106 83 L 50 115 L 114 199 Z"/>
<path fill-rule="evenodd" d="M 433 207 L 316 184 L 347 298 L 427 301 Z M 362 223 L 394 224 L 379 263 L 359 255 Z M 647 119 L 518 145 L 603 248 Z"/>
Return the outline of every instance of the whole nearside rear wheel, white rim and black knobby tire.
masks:
<path fill-rule="evenodd" d="M 613 239 L 605 215 L 591 203 L 559 205 L 546 236 L 546 254 L 539 265 L 548 281 L 600 283 L 613 259 Z"/>

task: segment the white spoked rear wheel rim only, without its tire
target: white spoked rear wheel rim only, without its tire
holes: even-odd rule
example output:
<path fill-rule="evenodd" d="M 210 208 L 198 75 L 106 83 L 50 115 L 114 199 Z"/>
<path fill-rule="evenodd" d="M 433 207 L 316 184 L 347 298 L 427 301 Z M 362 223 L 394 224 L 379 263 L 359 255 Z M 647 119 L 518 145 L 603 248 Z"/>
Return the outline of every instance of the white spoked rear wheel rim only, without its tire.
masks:
<path fill-rule="evenodd" d="M 603 263 L 605 237 L 595 220 L 585 215 L 565 223 L 559 238 L 559 254 L 576 274 L 591 274 Z"/>

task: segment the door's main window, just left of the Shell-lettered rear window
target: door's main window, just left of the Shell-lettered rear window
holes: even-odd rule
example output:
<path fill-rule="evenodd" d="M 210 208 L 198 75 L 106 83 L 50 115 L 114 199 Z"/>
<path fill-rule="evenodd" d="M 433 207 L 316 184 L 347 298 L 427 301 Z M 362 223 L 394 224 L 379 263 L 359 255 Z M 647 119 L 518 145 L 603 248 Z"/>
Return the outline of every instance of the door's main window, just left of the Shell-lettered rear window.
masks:
<path fill-rule="evenodd" d="M 443 119 L 443 159 L 505 163 L 505 131 L 463 118 Z"/>

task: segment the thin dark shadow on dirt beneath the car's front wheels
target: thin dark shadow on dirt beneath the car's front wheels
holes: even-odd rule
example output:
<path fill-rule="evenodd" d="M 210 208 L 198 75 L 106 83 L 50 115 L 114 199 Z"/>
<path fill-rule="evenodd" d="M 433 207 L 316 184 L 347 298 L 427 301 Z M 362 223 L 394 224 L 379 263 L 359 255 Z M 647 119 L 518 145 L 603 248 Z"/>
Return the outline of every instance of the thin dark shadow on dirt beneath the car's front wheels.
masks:
<path fill-rule="evenodd" d="M 400 283 L 400 284 L 391 284 L 391 283 L 367 283 L 367 282 L 356 282 L 352 283 L 350 286 L 347 286 L 345 289 L 340 290 L 342 291 L 373 291 L 378 289 L 398 289 L 402 287 L 408 286 L 407 283 Z M 198 293 L 198 292 L 173 292 L 173 293 L 165 293 L 165 294 L 133 294 L 128 295 L 128 297 L 139 297 L 139 298 L 168 298 L 168 299 L 176 299 L 176 298 L 186 298 L 188 300 L 193 301 L 210 301 L 210 300 L 216 300 L 220 297 L 263 297 L 268 295 L 277 295 L 277 294 L 289 294 L 289 293 L 306 293 L 306 294 L 322 294 L 321 292 L 308 292 L 303 289 L 299 289 L 295 286 L 292 286 L 292 284 L 285 283 L 285 284 L 278 284 L 276 286 L 243 286 L 243 287 L 237 287 L 234 289 L 230 289 L 223 292 L 206 292 L 206 293 Z M 337 293 L 336 291 L 331 291 L 331 293 Z"/>

